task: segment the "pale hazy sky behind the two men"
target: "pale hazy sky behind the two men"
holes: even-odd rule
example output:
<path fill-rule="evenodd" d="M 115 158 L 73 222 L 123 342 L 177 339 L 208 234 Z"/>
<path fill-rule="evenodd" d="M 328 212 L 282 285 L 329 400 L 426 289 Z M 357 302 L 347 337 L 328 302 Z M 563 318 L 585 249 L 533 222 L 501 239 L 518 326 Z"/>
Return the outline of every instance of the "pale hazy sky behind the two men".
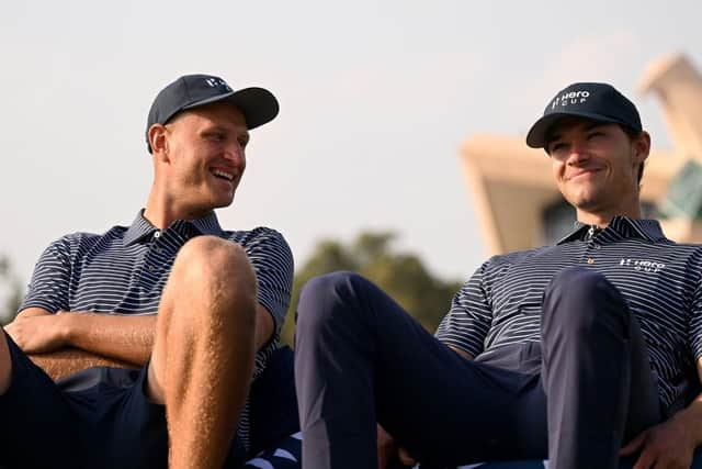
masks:
<path fill-rule="evenodd" d="M 146 114 L 189 72 L 263 86 L 227 228 L 268 225 L 302 265 L 322 237 L 393 230 L 437 273 L 485 257 L 458 159 L 479 133 L 523 136 L 573 81 L 609 81 L 670 145 L 652 60 L 702 67 L 699 2 L 27 1 L 0 7 L 0 252 L 27 280 L 42 249 L 128 224 L 148 193 Z"/>

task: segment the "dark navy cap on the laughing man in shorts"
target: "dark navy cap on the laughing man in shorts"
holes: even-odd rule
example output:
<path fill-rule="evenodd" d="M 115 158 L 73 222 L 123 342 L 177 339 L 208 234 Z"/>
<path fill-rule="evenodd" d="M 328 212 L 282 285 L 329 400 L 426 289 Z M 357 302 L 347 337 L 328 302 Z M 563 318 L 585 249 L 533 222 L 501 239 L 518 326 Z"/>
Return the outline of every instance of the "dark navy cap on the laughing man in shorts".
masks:
<path fill-rule="evenodd" d="M 212 75 L 185 75 L 163 88 L 154 100 L 146 122 L 146 144 L 149 153 L 149 129 L 166 124 L 176 114 L 211 102 L 228 100 L 244 114 L 249 130 L 272 121 L 280 107 L 278 100 L 263 88 L 242 88 L 235 91 L 225 80 Z"/>

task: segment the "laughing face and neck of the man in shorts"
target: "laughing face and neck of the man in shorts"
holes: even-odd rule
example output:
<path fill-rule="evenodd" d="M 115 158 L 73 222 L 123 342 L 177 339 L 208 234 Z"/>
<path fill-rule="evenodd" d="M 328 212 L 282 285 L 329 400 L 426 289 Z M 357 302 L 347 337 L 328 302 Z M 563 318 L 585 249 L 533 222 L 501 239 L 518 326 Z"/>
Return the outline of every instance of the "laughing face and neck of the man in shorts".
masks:
<path fill-rule="evenodd" d="M 246 169 L 249 141 L 244 114 L 226 101 L 179 114 L 160 131 L 157 180 L 178 217 L 227 206 Z"/>

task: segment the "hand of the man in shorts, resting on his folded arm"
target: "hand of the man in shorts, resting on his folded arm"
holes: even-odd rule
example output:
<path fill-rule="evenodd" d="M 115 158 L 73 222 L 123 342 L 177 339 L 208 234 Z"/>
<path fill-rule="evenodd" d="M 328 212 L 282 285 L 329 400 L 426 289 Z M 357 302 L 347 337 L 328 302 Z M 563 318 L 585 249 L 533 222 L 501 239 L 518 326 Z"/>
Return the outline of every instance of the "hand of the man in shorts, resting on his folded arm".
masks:
<path fill-rule="evenodd" d="M 18 314 L 4 330 L 25 354 L 55 351 L 66 345 L 59 327 L 63 311 L 52 314 L 32 309 Z"/>

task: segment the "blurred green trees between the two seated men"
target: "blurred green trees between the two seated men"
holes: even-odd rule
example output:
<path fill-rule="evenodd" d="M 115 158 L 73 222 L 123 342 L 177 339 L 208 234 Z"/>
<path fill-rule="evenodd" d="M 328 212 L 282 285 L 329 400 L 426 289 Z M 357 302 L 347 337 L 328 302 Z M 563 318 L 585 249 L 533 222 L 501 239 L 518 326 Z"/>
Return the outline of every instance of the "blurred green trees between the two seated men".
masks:
<path fill-rule="evenodd" d="M 305 265 L 295 272 L 293 298 L 282 340 L 293 343 L 294 316 L 301 288 L 313 277 L 336 270 L 352 270 L 375 282 L 428 331 L 433 332 L 449 311 L 458 281 L 434 277 L 421 259 L 392 248 L 395 234 L 361 233 L 350 245 L 325 239 L 317 244 Z"/>

